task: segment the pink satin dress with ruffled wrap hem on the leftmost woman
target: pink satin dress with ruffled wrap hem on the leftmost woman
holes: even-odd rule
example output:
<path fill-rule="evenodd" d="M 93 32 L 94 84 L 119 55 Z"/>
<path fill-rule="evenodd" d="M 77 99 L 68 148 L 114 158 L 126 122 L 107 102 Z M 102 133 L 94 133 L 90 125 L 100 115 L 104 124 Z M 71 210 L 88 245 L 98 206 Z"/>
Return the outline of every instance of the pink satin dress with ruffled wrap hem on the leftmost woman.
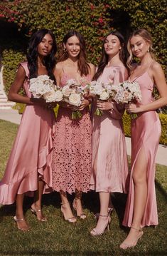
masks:
<path fill-rule="evenodd" d="M 20 64 L 26 73 L 23 89 L 28 91 L 28 66 Z M 17 194 L 33 195 L 38 189 L 38 177 L 45 182 L 44 193 L 52 191 L 51 162 L 53 150 L 55 115 L 52 110 L 43 106 L 27 105 L 18 133 L 11 150 L 4 178 L 0 183 L 0 204 L 14 203 Z"/>

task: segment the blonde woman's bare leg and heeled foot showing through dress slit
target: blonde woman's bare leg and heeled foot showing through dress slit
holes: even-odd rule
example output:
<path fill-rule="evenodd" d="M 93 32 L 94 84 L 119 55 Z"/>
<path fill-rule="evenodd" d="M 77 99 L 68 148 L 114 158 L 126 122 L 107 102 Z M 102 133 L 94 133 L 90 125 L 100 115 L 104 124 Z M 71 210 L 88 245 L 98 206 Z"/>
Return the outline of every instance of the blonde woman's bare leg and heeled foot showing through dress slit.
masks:
<path fill-rule="evenodd" d="M 147 198 L 147 181 L 146 181 L 147 162 L 144 148 L 140 150 L 139 156 L 134 165 L 132 174 L 134 182 L 134 214 L 131 229 L 128 236 L 122 242 L 122 249 L 136 245 L 141 235 L 141 220 L 144 215 Z"/>

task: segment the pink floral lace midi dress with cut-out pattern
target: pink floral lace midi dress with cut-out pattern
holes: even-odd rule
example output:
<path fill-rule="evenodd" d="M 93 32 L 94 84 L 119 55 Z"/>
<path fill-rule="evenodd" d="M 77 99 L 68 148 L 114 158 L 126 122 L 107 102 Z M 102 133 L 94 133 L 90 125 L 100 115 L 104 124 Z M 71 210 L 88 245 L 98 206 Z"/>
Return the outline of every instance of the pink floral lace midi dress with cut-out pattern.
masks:
<path fill-rule="evenodd" d="M 72 77 L 63 73 L 60 86 Z M 85 79 L 90 81 L 89 76 Z M 72 120 L 72 111 L 60 107 L 55 123 L 53 141 L 53 189 L 74 193 L 75 189 L 90 190 L 92 158 L 92 124 L 90 110 L 86 107 L 82 118 Z"/>

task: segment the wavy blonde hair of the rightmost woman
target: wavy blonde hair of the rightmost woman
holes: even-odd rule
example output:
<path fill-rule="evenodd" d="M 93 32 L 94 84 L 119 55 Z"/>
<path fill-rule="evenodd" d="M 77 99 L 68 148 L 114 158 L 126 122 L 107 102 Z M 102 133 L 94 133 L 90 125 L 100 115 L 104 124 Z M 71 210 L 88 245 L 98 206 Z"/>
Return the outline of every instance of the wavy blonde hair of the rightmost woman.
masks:
<path fill-rule="evenodd" d="M 132 68 L 131 61 L 133 60 L 133 54 L 131 52 L 130 40 L 133 36 L 141 36 L 142 39 L 144 39 L 146 42 L 148 42 L 150 44 L 149 51 L 151 53 L 151 56 L 152 56 L 152 58 L 155 58 L 155 56 L 153 54 L 153 41 L 152 41 L 152 38 L 151 38 L 151 34 L 149 34 L 149 32 L 146 31 L 146 29 L 136 29 L 129 36 L 129 40 L 128 40 L 128 43 L 127 43 L 127 50 L 129 52 L 129 58 L 127 59 L 126 64 L 127 64 L 128 68 L 130 68 L 130 69 Z"/>

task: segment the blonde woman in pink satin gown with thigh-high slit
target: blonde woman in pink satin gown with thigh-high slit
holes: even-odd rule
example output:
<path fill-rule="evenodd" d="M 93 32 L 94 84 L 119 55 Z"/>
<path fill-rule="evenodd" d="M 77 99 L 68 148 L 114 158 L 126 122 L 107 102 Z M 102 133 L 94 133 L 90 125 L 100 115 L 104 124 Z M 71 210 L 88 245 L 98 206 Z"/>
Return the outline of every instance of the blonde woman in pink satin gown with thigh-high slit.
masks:
<path fill-rule="evenodd" d="M 167 104 L 166 80 L 161 65 L 153 59 L 149 32 L 145 29 L 134 31 L 129 38 L 128 51 L 129 81 L 139 83 L 142 102 L 126 106 L 129 113 L 137 113 L 138 117 L 131 121 L 131 177 L 123 220 L 123 225 L 131 229 L 120 245 L 124 250 L 137 244 L 144 233 L 141 227 L 158 225 L 154 178 L 161 123 L 156 109 Z M 133 66 L 132 56 L 140 61 Z M 152 98 L 153 86 L 160 94 L 156 101 Z"/>

